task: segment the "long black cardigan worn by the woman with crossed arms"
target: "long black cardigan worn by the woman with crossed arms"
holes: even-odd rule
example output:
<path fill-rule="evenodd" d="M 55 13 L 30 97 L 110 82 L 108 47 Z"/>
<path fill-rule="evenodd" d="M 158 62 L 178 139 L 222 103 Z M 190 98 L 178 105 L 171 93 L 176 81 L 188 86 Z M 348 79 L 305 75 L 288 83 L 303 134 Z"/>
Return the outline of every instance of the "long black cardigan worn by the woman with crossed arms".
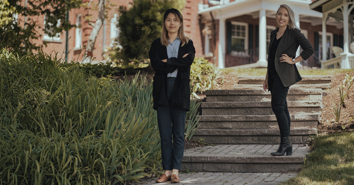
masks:
<path fill-rule="evenodd" d="M 156 110 L 159 106 L 168 106 L 166 80 L 167 73 L 173 72 L 178 69 L 176 81 L 173 87 L 172 94 L 172 107 L 182 108 L 189 111 L 190 109 L 190 87 L 189 75 L 190 66 L 193 63 L 195 48 L 192 40 L 188 44 L 181 46 L 178 51 L 178 57 L 168 58 L 167 48 L 160 43 L 160 38 L 155 39 L 149 51 L 150 63 L 152 69 L 155 71 L 152 84 L 152 98 L 153 108 Z M 182 57 L 188 53 L 186 57 Z M 167 59 L 164 63 L 162 59 Z"/>

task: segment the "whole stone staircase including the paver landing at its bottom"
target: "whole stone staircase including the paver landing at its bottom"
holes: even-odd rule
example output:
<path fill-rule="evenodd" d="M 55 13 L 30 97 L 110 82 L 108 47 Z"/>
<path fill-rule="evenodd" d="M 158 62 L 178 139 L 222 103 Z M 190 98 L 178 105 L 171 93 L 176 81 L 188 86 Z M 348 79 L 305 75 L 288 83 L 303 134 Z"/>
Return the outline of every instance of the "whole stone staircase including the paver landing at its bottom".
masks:
<path fill-rule="evenodd" d="M 199 128 L 193 139 L 217 145 L 186 150 L 182 170 L 299 170 L 309 150 L 306 143 L 311 135 L 317 134 L 322 89 L 330 87 L 330 76 L 303 76 L 301 83 L 289 89 L 292 156 L 270 155 L 278 149 L 280 133 L 271 110 L 270 93 L 262 90 L 263 81 L 264 77 L 240 77 L 234 90 L 205 92 L 207 101 L 202 103 Z"/>

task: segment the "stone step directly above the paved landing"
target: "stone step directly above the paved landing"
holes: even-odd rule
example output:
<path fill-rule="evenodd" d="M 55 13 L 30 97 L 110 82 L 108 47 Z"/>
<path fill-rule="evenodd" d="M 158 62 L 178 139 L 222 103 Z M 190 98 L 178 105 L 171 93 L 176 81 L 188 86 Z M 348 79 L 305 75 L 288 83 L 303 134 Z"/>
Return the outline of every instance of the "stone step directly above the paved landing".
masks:
<path fill-rule="evenodd" d="M 293 143 L 308 143 L 311 135 L 316 135 L 317 129 L 291 129 L 290 137 Z M 210 144 L 276 144 L 280 143 L 280 132 L 276 129 L 198 129 L 192 140 Z"/>

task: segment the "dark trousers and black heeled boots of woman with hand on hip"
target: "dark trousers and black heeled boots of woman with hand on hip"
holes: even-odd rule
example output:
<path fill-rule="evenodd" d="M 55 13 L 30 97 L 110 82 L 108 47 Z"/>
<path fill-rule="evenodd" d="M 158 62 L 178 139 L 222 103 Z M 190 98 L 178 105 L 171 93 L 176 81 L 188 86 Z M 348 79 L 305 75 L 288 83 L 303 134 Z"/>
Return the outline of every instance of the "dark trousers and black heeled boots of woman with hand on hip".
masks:
<path fill-rule="evenodd" d="M 269 87 L 271 93 L 271 108 L 277 117 L 280 130 L 280 146 L 277 152 L 271 155 L 292 155 L 292 145 L 290 142 L 290 114 L 286 101 L 289 87 L 284 87 L 279 76 L 270 78 Z"/>

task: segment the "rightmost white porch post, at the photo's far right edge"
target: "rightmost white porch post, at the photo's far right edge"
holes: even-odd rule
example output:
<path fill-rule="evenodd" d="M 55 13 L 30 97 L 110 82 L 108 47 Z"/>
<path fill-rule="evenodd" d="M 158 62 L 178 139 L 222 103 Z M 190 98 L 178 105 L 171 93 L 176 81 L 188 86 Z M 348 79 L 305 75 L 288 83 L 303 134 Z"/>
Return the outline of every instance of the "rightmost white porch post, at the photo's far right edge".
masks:
<path fill-rule="evenodd" d="M 348 3 L 346 2 L 346 0 L 343 0 L 343 53 L 345 53 L 346 55 L 344 55 L 342 57 L 342 69 L 350 69 L 350 65 L 349 65 L 349 59 L 348 59 L 348 53 L 349 53 L 349 32 L 348 32 L 348 15 L 349 15 L 349 11 L 348 11 Z"/>

